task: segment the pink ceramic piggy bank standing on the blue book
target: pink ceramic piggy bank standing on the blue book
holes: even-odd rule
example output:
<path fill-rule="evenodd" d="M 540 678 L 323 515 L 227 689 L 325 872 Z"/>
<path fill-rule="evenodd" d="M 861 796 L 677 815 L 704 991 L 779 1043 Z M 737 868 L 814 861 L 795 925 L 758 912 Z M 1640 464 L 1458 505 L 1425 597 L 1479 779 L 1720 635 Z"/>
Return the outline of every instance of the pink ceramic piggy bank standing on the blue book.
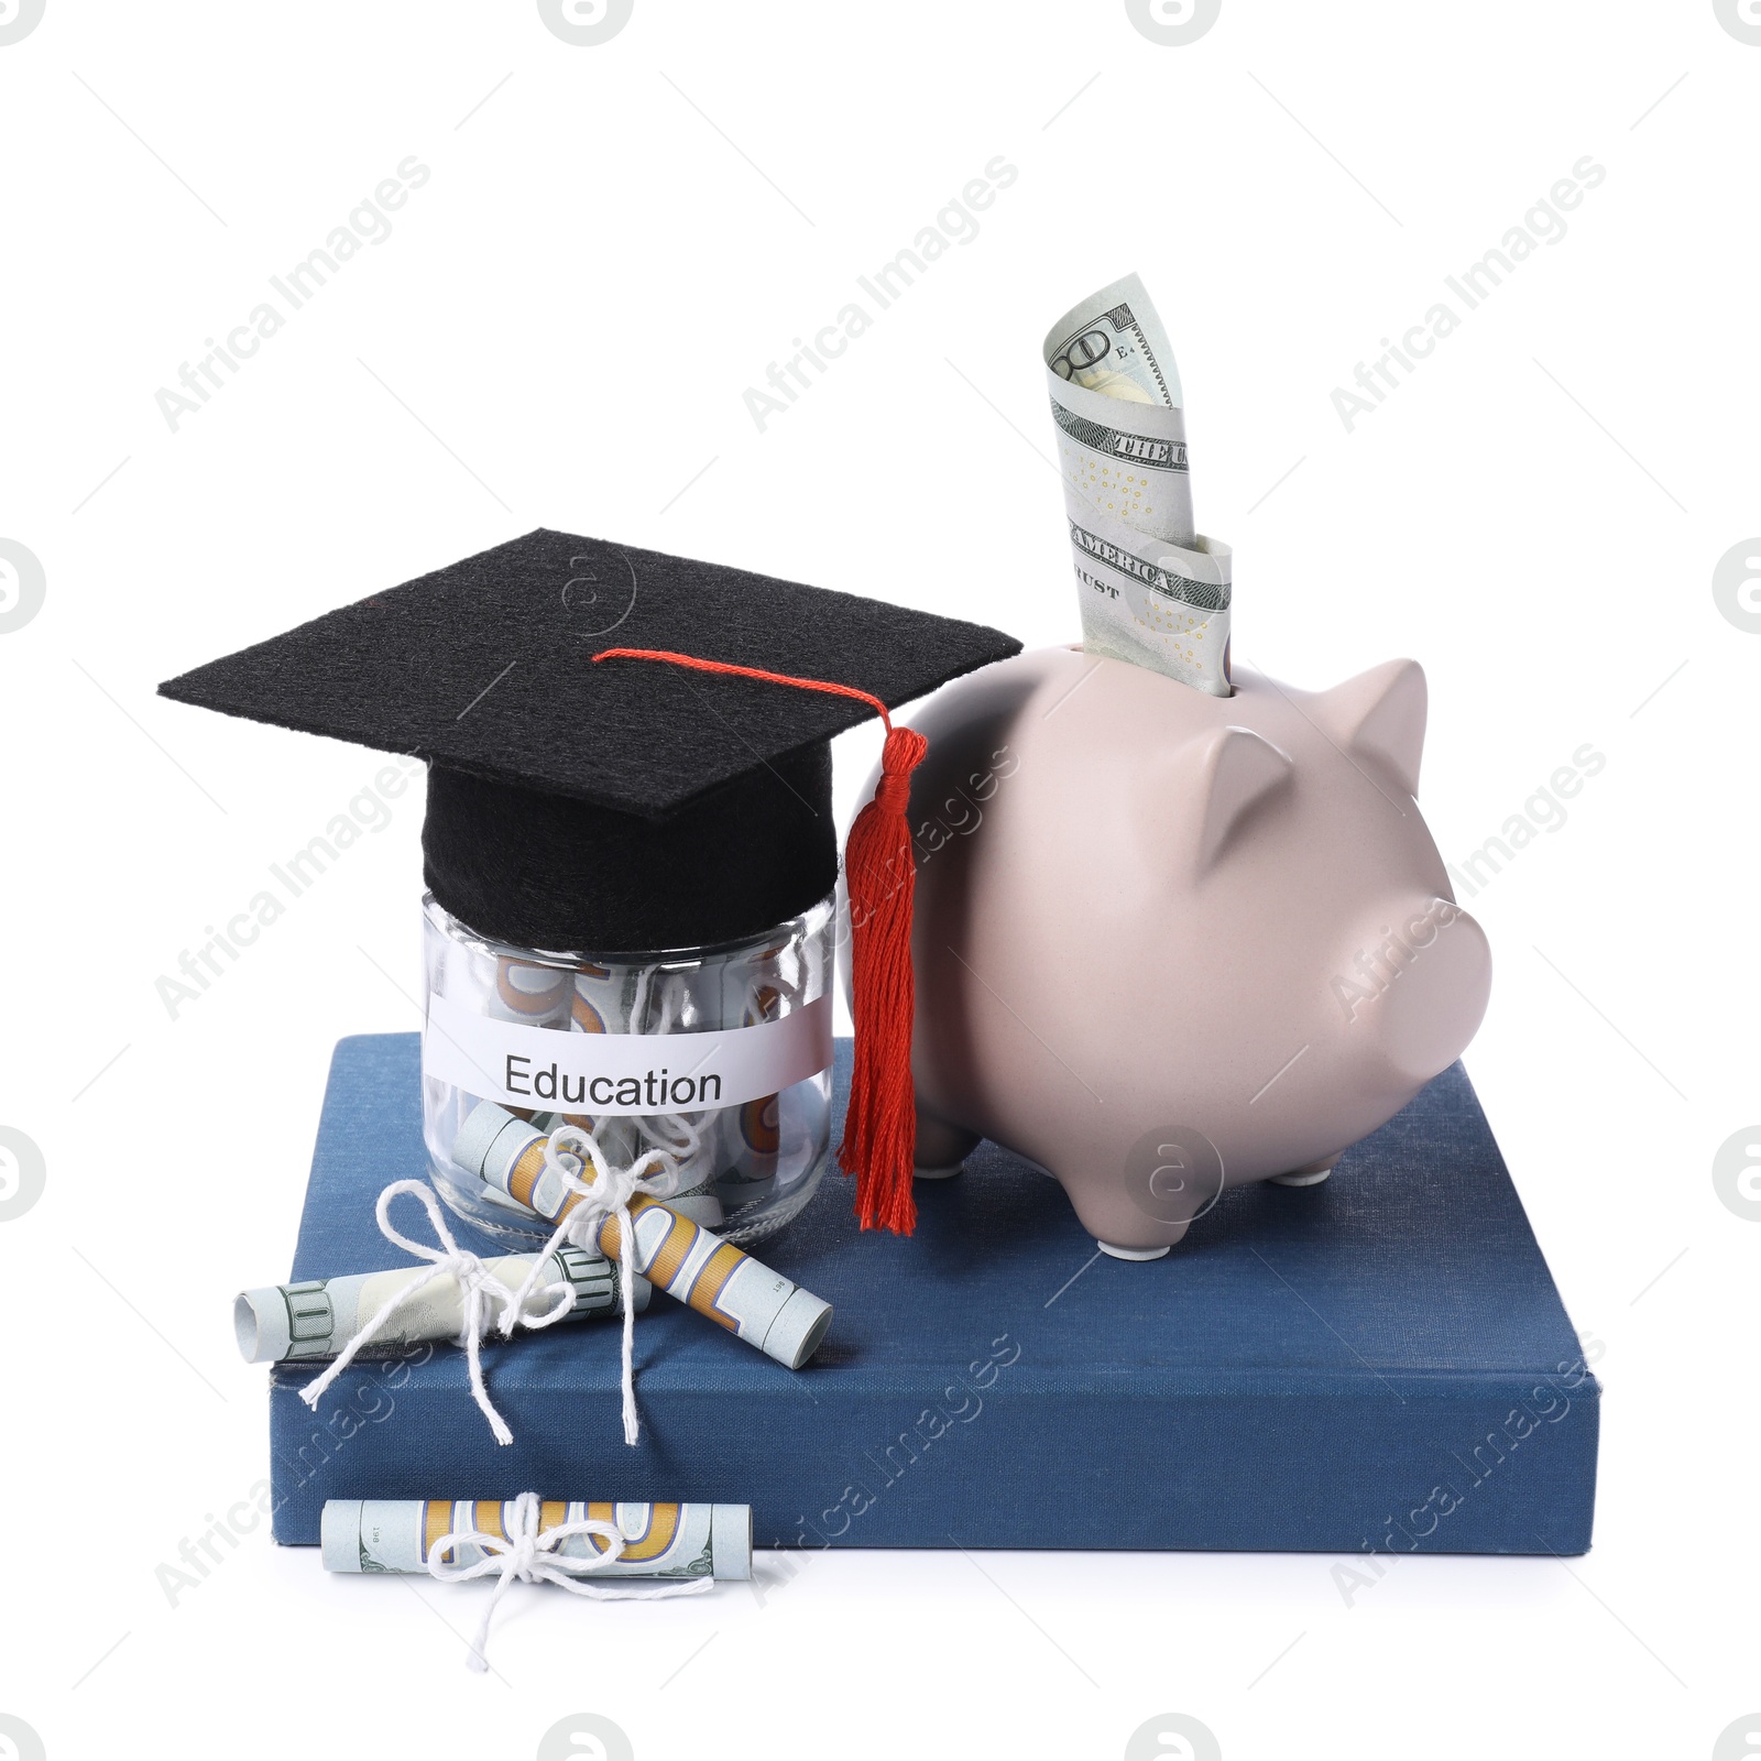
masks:
<path fill-rule="evenodd" d="M 1053 648 L 914 718 L 917 1176 L 990 1138 L 1099 1247 L 1312 1185 L 1455 1062 L 1492 960 L 1412 796 L 1425 674 L 1210 697 Z"/>

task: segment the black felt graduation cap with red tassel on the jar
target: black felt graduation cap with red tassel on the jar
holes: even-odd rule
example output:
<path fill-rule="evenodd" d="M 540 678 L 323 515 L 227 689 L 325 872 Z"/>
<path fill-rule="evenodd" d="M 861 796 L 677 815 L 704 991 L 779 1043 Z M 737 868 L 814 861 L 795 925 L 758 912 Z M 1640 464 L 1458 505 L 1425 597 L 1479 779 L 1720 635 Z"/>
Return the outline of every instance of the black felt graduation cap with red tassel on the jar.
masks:
<path fill-rule="evenodd" d="M 211 660 L 160 694 L 428 761 L 423 866 L 479 935 L 539 951 L 731 942 L 836 882 L 835 734 L 888 726 L 851 828 L 856 1081 L 840 1164 L 909 1229 L 910 880 L 923 740 L 888 717 L 1020 652 L 1002 630 L 567 532 Z"/>

